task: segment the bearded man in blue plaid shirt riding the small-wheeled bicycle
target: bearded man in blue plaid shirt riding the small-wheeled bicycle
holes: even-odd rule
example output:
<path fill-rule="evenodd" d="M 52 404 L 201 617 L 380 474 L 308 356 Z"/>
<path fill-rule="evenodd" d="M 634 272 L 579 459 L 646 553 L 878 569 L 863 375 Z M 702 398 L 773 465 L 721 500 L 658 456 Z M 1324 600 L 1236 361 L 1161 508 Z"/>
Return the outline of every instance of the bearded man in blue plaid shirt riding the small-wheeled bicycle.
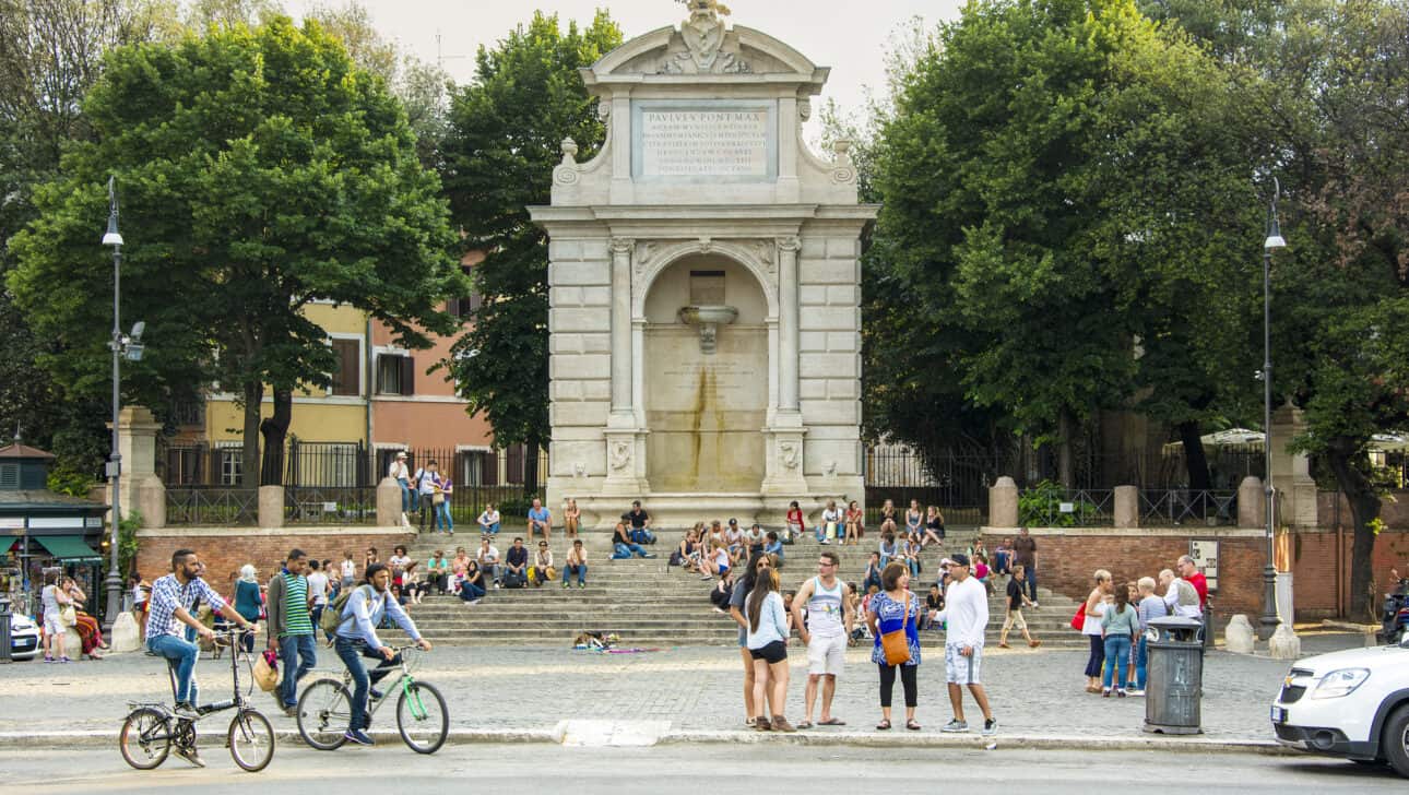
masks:
<path fill-rule="evenodd" d="M 190 550 L 176 550 L 172 553 L 172 574 L 159 578 L 152 584 L 151 612 L 147 615 L 147 648 L 158 657 L 175 661 L 176 664 L 176 715 L 182 717 L 199 717 L 196 710 L 196 694 L 192 684 L 192 674 L 196 670 L 196 658 L 200 657 L 200 647 L 178 636 L 176 622 L 196 630 L 196 634 L 206 640 L 214 640 L 216 633 L 206 624 L 196 620 L 190 612 L 196 602 L 204 599 L 211 610 L 224 615 L 245 630 L 254 631 L 254 624 L 225 603 L 206 581 L 200 578 L 200 561 Z M 178 748 L 178 754 L 186 761 L 206 767 L 196 754 L 196 748 Z"/>

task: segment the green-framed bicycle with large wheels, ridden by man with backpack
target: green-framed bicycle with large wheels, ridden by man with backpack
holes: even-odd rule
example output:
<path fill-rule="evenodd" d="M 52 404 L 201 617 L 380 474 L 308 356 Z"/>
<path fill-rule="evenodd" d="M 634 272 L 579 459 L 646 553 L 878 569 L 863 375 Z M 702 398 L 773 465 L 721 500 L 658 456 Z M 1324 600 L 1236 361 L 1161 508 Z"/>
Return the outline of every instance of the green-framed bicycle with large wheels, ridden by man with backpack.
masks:
<path fill-rule="evenodd" d="M 445 696 L 427 682 L 417 682 L 411 675 L 413 661 L 420 661 L 418 646 L 399 646 L 402 672 L 380 699 L 368 705 L 368 717 L 375 716 L 383 703 L 396 694 L 396 729 L 402 740 L 418 754 L 434 754 L 445 744 L 449 734 L 449 710 Z M 306 743 L 320 751 L 331 751 L 347 743 L 347 732 L 352 719 L 352 674 L 342 672 L 341 679 L 318 679 L 299 696 L 299 734 Z"/>

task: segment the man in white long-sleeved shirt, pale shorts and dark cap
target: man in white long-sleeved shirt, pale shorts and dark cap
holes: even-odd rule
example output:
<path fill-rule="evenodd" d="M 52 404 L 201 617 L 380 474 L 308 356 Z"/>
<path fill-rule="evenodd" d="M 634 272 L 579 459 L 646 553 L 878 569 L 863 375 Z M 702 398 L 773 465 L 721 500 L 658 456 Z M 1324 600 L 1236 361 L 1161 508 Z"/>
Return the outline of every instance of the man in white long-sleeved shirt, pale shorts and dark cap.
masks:
<path fill-rule="evenodd" d="M 968 732 L 964 720 L 964 688 L 968 685 L 974 702 L 983 710 L 983 736 L 998 733 L 998 719 L 988 708 L 988 694 L 979 682 L 983 660 L 983 630 L 988 629 L 988 591 L 976 577 L 969 575 L 968 555 L 955 553 L 948 561 L 950 586 L 944 591 L 944 609 L 937 620 L 947 622 L 944 637 L 944 681 L 950 685 L 950 706 L 954 720 L 943 732 Z"/>

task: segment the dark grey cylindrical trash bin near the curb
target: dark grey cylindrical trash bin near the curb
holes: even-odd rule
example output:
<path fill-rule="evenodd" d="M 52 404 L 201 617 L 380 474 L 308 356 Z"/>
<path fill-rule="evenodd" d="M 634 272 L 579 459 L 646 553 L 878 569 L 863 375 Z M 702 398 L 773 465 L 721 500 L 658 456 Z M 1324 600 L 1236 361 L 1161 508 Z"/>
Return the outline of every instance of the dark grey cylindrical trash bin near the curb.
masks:
<path fill-rule="evenodd" d="M 1168 616 L 1146 630 L 1148 681 L 1146 732 L 1202 734 L 1199 699 L 1203 696 L 1203 623 Z"/>

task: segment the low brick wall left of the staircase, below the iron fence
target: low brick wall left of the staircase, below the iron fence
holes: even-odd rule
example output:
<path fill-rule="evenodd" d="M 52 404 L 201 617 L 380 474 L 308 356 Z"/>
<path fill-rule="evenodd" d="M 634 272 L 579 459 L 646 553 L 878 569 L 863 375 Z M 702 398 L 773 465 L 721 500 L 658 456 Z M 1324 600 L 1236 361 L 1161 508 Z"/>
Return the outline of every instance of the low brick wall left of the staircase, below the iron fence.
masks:
<path fill-rule="evenodd" d="M 254 564 L 261 582 L 278 571 L 289 550 L 297 547 L 311 558 L 342 561 L 342 553 L 352 553 L 361 574 L 362 553 L 376 547 L 385 561 L 392 547 L 416 540 L 416 533 L 399 527 L 163 527 L 141 530 L 137 534 L 137 571 L 148 581 L 170 572 L 173 551 L 194 550 L 206 562 L 207 581 L 225 593 L 231 574 L 245 564 Z"/>

